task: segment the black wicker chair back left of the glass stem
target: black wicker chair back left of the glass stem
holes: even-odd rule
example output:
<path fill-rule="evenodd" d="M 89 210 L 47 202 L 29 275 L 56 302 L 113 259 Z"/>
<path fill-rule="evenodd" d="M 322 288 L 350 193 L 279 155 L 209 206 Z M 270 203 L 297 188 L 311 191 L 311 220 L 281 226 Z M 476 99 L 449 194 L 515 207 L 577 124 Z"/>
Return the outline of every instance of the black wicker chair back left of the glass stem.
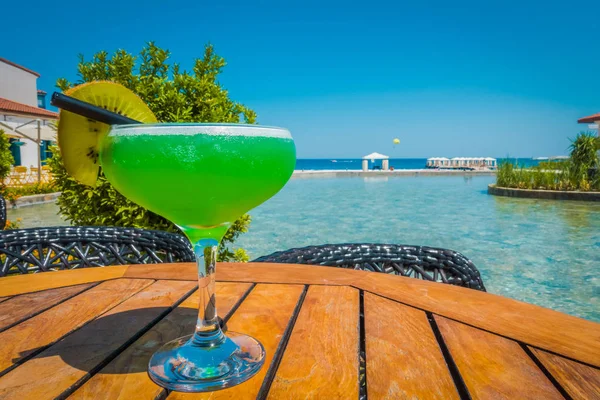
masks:
<path fill-rule="evenodd" d="M 185 237 L 162 231 L 101 226 L 0 231 L 0 277 L 194 259 Z"/>

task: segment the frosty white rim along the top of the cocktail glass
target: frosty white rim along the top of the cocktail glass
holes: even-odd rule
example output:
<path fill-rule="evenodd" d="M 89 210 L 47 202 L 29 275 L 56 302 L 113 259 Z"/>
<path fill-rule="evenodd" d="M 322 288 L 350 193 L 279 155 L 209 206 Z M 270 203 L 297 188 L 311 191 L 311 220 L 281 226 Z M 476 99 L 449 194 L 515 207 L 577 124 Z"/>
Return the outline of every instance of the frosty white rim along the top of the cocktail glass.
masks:
<path fill-rule="evenodd" d="M 290 131 L 275 126 L 249 124 L 131 124 L 113 125 L 111 135 L 215 135 L 215 136 L 261 136 L 281 139 L 291 139 Z"/>

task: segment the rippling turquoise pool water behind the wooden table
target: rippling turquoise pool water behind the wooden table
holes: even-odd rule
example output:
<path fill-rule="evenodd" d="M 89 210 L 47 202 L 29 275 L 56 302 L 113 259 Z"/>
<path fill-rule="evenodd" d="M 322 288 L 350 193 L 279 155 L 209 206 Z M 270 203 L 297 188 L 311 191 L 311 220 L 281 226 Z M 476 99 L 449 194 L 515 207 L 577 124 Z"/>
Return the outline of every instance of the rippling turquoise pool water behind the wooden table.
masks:
<path fill-rule="evenodd" d="M 322 243 L 419 244 L 473 260 L 489 292 L 600 321 L 600 204 L 487 194 L 494 177 L 292 179 L 251 212 L 251 258 Z"/>

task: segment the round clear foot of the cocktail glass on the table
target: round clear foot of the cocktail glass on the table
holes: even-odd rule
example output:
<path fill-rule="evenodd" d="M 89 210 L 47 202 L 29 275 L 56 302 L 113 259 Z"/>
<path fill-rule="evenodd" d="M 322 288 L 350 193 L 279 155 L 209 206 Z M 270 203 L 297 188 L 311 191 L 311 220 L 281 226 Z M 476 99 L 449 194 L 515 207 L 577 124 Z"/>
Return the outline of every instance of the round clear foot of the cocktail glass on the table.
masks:
<path fill-rule="evenodd" d="M 188 335 L 152 355 L 148 375 L 162 387 L 179 392 L 208 392 L 240 384 L 265 362 L 265 349 L 251 336 L 219 330 L 215 338 Z"/>

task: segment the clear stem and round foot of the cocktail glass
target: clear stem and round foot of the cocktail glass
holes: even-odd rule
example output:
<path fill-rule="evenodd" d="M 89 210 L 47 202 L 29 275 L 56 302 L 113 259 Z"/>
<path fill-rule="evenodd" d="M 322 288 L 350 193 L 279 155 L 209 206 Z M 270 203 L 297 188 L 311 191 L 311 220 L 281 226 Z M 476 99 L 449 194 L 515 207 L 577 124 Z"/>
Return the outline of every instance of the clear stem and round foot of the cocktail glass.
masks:
<path fill-rule="evenodd" d="M 256 374 L 265 350 L 253 337 L 223 333 L 217 316 L 215 272 L 219 239 L 227 226 L 185 229 L 198 268 L 198 319 L 193 334 L 165 344 L 148 363 L 148 374 L 171 390 L 204 392 L 237 385 Z"/>

